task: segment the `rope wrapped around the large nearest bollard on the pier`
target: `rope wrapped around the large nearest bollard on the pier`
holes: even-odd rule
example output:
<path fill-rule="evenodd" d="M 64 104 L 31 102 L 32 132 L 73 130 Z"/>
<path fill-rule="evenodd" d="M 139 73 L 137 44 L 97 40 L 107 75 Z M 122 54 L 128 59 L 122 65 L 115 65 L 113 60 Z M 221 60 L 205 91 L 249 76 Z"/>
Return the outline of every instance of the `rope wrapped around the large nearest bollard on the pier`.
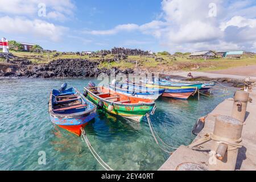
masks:
<path fill-rule="evenodd" d="M 229 146 L 232 146 L 233 148 L 229 148 L 228 151 L 236 150 L 237 148 L 242 148 L 242 144 L 241 144 L 242 138 L 228 139 L 228 138 L 224 138 L 224 137 L 218 137 L 218 136 L 214 135 L 213 133 L 205 134 L 204 138 L 201 138 L 201 139 L 197 140 L 196 142 L 191 143 L 188 146 L 188 148 L 200 146 L 201 144 L 207 143 L 210 140 L 214 140 L 216 142 L 220 142 L 220 143 L 224 143 L 224 144 L 228 144 Z"/>

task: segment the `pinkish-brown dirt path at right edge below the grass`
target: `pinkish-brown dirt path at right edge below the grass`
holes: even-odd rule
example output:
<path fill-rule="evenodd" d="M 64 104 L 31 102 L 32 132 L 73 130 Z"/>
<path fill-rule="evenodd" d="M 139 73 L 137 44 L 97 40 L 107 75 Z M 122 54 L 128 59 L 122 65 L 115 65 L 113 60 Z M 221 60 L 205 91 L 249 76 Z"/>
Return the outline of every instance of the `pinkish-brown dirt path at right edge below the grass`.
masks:
<path fill-rule="evenodd" d="M 256 65 L 248 65 L 245 67 L 229 68 L 220 71 L 211 71 L 209 73 L 218 73 L 226 75 L 256 76 Z"/>

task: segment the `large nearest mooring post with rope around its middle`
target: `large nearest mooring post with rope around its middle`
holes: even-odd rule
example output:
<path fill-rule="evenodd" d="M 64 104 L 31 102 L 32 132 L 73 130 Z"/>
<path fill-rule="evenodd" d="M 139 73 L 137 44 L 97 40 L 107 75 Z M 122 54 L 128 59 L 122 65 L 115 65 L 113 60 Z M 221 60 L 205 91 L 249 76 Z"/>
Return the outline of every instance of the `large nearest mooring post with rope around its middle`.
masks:
<path fill-rule="evenodd" d="M 216 118 L 213 131 L 209 169 L 212 171 L 234 171 L 238 149 L 241 147 L 243 123 L 238 119 L 221 115 Z"/>

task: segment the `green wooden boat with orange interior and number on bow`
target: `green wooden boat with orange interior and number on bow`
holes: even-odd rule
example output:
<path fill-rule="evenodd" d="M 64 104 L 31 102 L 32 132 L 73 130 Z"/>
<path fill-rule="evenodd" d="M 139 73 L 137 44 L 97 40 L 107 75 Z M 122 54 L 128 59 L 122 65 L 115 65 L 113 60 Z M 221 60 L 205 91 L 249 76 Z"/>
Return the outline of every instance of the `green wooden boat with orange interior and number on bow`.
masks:
<path fill-rule="evenodd" d="M 84 96 L 93 101 L 98 109 L 137 122 L 140 122 L 147 113 L 153 114 L 156 109 L 153 100 L 126 96 L 104 86 L 84 88 Z"/>

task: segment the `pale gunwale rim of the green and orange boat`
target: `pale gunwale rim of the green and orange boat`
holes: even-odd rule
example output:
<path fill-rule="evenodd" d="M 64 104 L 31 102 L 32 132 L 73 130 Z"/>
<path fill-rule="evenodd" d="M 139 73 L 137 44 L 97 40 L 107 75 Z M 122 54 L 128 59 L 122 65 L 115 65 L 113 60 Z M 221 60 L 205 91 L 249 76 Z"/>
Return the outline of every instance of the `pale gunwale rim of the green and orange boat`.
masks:
<path fill-rule="evenodd" d="M 104 86 L 103 86 L 104 87 Z M 100 88 L 99 86 L 97 86 L 97 88 Z M 100 101 L 104 101 L 108 104 L 113 104 L 113 105 L 118 105 L 118 106 L 154 106 L 155 105 L 155 101 L 151 100 L 151 99 L 148 99 L 147 100 L 150 100 L 151 102 L 143 102 L 141 104 L 129 104 L 129 103 L 118 103 L 118 102 L 111 102 L 111 101 L 108 101 L 108 100 L 105 100 L 104 98 L 100 97 L 100 96 L 97 96 L 96 94 L 94 94 L 92 91 L 90 91 L 88 88 L 84 87 L 84 89 L 89 92 L 90 94 L 92 94 L 92 96 L 96 97 L 98 100 Z M 110 90 L 110 89 L 109 89 Z M 118 94 L 122 94 L 122 93 L 118 93 Z M 123 94 L 125 95 L 125 94 Z M 126 96 L 126 95 L 125 95 Z M 131 97 L 131 96 L 127 96 L 127 97 Z M 132 98 L 136 98 L 138 99 L 138 97 L 132 97 Z"/>

